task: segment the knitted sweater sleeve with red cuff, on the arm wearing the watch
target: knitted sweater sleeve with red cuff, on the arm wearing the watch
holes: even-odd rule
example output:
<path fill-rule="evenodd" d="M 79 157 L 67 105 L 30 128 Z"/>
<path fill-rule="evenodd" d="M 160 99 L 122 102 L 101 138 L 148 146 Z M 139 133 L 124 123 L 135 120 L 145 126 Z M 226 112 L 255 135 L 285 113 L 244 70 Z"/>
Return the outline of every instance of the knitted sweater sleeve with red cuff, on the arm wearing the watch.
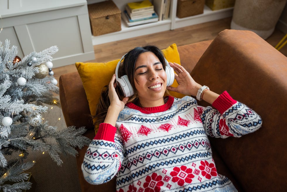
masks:
<path fill-rule="evenodd" d="M 210 137 L 241 137 L 262 125 L 261 117 L 246 105 L 234 100 L 226 91 L 211 107 L 198 106 L 206 134 Z"/>

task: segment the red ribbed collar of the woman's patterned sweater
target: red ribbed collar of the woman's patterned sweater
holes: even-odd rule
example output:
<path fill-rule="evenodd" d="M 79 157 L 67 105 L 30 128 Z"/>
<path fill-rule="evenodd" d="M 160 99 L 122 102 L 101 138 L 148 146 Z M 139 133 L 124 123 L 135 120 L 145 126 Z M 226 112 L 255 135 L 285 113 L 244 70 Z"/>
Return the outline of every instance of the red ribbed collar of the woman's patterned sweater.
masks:
<path fill-rule="evenodd" d="M 150 114 L 150 113 L 158 113 L 158 112 L 167 111 L 172 106 L 173 101 L 174 101 L 174 97 L 168 96 L 168 101 L 164 105 L 160 105 L 157 107 L 139 107 L 131 102 L 127 103 L 126 106 L 131 109 L 138 110 L 142 113 Z"/>

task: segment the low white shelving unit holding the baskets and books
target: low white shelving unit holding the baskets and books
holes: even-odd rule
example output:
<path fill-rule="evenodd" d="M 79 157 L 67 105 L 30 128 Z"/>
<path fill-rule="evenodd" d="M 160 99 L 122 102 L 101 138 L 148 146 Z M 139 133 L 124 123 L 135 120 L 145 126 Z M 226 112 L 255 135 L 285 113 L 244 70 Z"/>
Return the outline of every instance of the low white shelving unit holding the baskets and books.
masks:
<path fill-rule="evenodd" d="M 88 0 L 88 4 L 101 2 L 102 0 Z M 124 7 L 129 2 L 134 2 L 135 0 L 113 0 L 117 7 L 124 11 Z M 152 2 L 152 1 L 151 1 Z M 122 30 L 114 33 L 108 33 L 100 36 L 92 36 L 93 45 L 99 45 L 102 43 L 108 43 L 112 41 L 119 41 L 127 38 L 133 38 L 142 35 L 148 35 L 151 33 L 158 33 L 162 31 L 173 30 L 181 27 L 191 26 L 199 23 L 204 23 L 208 21 L 214 21 L 222 18 L 227 18 L 232 16 L 233 7 L 227 9 L 221 9 L 212 11 L 209 7 L 204 6 L 204 13 L 199 15 L 194 15 L 185 18 L 176 17 L 177 1 L 171 0 L 170 5 L 170 16 L 169 19 L 158 21 L 155 23 L 147 23 L 138 26 L 127 27 L 122 21 Z"/>

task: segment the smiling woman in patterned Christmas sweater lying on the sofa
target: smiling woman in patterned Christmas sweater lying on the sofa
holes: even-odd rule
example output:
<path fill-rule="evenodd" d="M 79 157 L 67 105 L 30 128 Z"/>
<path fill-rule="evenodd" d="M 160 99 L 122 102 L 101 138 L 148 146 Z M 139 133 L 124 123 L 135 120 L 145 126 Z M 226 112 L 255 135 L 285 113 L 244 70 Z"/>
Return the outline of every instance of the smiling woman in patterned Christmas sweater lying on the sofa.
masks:
<path fill-rule="evenodd" d="M 91 184 L 117 176 L 117 191 L 237 191 L 217 173 L 210 137 L 241 137 L 261 127 L 258 114 L 225 91 L 218 95 L 199 85 L 176 63 L 178 87 L 167 87 L 165 59 L 155 46 L 129 51 L 119 69 L 134 95 L 117 94 L 114 74 L 97 108 L 98 133 L 82 171 Z M 166 89 L 197 96 L 164 96 Z M 105 103 L 104 95 L 109 97 Z M 120 99 L 119 99 L 120 97 Z"/>

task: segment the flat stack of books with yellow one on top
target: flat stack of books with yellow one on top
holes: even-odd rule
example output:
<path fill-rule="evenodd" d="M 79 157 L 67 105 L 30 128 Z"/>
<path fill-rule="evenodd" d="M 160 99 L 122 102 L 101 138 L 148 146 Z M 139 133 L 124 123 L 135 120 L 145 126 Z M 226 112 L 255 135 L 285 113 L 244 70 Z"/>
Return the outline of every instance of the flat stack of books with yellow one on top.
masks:
<path fill-rule="evenodd" d="M 158 21 L 158 15 L 149 0 L 128 3 L 122 18 L 129 27 Z"/>

